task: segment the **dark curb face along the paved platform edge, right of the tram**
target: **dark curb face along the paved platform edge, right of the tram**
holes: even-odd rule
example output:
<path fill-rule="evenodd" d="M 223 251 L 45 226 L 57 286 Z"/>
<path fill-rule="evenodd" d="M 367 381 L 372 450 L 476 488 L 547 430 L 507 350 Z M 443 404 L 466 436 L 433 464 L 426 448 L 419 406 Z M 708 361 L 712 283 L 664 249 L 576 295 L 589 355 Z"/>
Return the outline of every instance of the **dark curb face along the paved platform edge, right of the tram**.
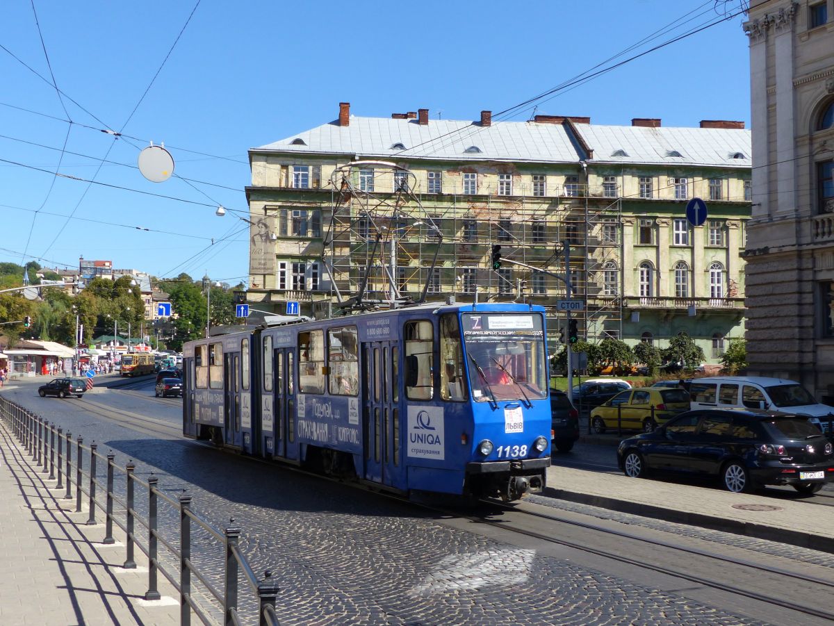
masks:
<path fill-rule="evenodd" d="M 666 522 L 685 523 L 690 526 L 720 530 L 724 533 L 739 534 L 746 537 L 766 539 L 767 541 L 788 543 L 800 548 L 809 548 L 819 552 L 834 553 L 834 538 L 802 533 L 797 530 L 776 528 L 760 523 L 739 522 L 735 519 L 719 518 L 712 515 L 704 515 L 703 513 L 688 513 L 671 508 L 656 507 L 651 504 L 641 504 L 631 502 L 630 500 L 595 496 L 590 493 L 566 491 L 565 489 L 552 487 L 545 487 L 542 495 L 567 500 L 568 502 L 608 508 L 612 511 L 619 511 L 620 513 L 631 513 L 646 518 L 662 519 Z"/>

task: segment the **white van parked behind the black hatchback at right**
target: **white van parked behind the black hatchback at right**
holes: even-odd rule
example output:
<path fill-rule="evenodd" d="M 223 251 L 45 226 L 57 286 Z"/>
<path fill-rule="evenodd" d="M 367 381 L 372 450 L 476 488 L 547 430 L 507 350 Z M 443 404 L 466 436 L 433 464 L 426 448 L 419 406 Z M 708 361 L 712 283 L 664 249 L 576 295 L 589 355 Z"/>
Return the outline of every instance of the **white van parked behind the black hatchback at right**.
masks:
<path fill-rule="evenodd" d="M 807 415 L 823 433 L 834 420 L 834 407 L 816 402 L 800 383 L 761 376 L 709 376 L 689 387 L 691 408 L 765 408 Z"/>

